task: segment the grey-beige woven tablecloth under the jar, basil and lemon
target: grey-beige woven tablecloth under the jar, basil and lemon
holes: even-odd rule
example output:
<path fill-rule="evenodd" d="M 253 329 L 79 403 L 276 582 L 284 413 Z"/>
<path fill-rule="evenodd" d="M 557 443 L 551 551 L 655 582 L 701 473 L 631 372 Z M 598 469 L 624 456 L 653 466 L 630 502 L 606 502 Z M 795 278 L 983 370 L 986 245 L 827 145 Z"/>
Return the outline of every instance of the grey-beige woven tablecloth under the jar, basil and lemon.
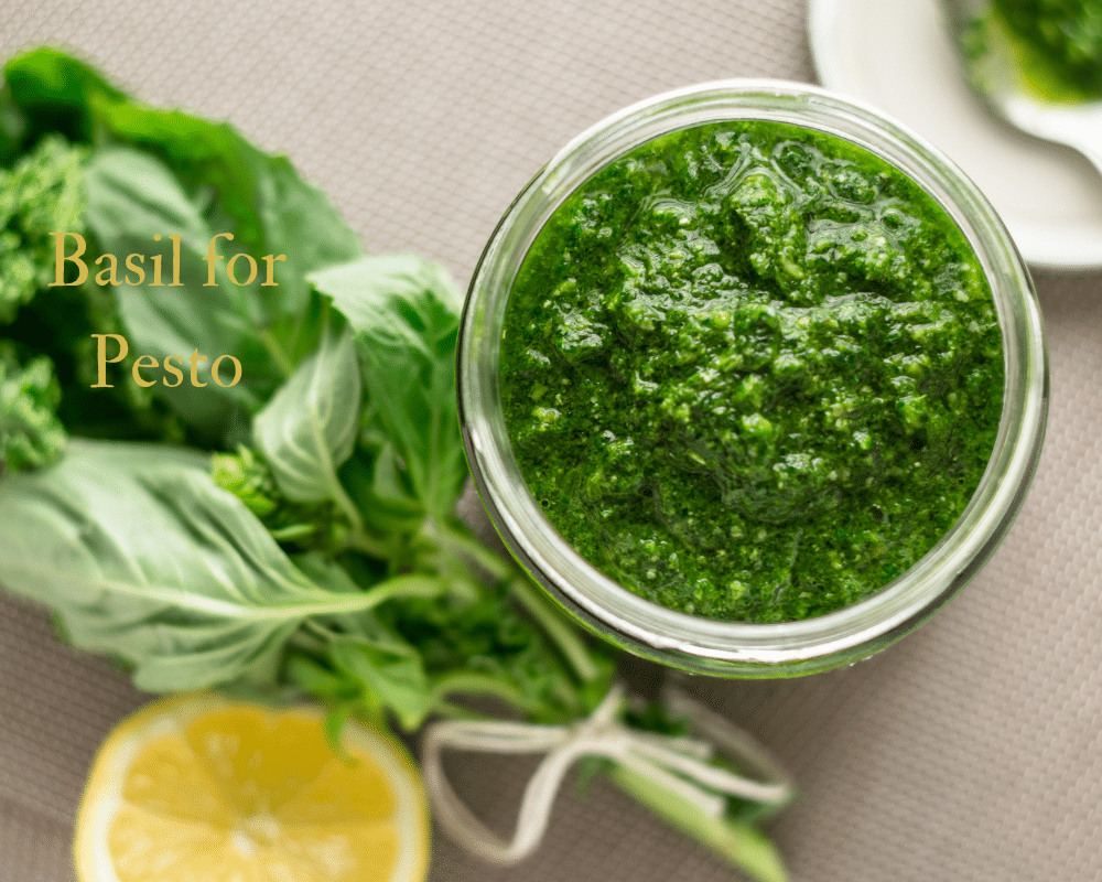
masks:
<path fill-rule="evenodd" d="M 0 54 L 62 44 L 153 104 L 230 119 L 288 153 L 370 250 L 417 250 L 465 280 L 512 196 L 606 114 L 705 79 L 811 80 L 803 14 L 800 0 L 6 0 Z M 793 772 L 802 798 L 771 831 L 800 882 L 1100 878 L 1102 276 L 1037 283 L 1048 441 L 984 572 L 855 667 L 695 681 Z M 62 646 L 40 612 L 0 600 L 0 879 L 72 878 L 88 763 L 145 700 Z M 521 771 L 475 757 L 456 777 L 508 825 Z M 432 878 L 737 874 L 597 782 L 560 796 L 548 840 L 521 867 L 487 868 L 437 835 Z"/>

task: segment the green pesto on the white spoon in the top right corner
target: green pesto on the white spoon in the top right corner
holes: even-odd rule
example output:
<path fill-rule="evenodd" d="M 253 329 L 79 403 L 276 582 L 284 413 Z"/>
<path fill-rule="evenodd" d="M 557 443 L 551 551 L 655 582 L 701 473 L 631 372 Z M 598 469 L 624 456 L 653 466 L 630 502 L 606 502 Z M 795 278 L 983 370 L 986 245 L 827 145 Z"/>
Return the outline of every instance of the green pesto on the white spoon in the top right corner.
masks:
<path fill-rule="evenodd" d="M 1044 97 L 1102 98 L 1102 0 L 994 0 L 1022 73 Z"/>

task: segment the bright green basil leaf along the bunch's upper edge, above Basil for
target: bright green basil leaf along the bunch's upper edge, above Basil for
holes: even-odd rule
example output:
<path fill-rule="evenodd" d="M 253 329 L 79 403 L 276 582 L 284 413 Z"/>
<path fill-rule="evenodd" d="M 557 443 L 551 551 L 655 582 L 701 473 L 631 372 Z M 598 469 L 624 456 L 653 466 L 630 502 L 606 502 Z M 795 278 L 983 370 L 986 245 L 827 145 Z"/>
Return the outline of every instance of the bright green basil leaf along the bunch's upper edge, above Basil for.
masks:
<path fill-rule="evenodd" d="M 55 50 L 13 58 L 3 74 L 0 109 L 11 120 L 3 126 L 0 160 L 47 131 L 83 143 L 129 144 L 158 157 L 191 195 L 207 203 L 208 219 L 213 204 L 217 206 L 229 220 L 219 232 L 234 233 L 256 260 L 287 256 L 279 287 L 266 292 L 266 324 L 306 309 L 307 271 L 363 252 L 324 193 L 303 181 L 285 157 L 264 153 L 225 122 L 147 107 L 93 67 Z"/>

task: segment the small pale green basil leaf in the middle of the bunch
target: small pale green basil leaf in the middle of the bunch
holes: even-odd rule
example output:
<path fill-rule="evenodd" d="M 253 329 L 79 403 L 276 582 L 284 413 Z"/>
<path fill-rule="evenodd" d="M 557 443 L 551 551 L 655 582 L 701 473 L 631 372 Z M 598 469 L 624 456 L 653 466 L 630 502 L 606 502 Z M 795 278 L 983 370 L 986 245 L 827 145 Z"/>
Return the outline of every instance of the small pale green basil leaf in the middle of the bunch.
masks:
<path fill-rule="evenodd" d="M 320 503 L 342 495 L 337 470 L 356 444 L 361 400 L 352 332 L 328 327 L 253 422 L 256 444 L 284 496 Z"/>

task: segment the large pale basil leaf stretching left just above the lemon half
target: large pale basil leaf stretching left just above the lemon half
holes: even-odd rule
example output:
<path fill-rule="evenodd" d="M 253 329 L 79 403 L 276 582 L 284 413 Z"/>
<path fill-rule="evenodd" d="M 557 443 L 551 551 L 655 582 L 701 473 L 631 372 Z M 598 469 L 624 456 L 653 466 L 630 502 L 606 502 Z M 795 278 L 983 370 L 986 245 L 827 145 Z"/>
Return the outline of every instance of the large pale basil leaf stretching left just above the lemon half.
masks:
<path fill-rule="evenodd" d="M 6 477 L 0 582 L 53 607 L 79 648 L 133 665 L 151 691 L 271 682 L 306 616 L 354 613 L 404 589 L 316 587 L 207 466 L 204 454 L 163 445 L 73 441 L 54 466 Z"/>

